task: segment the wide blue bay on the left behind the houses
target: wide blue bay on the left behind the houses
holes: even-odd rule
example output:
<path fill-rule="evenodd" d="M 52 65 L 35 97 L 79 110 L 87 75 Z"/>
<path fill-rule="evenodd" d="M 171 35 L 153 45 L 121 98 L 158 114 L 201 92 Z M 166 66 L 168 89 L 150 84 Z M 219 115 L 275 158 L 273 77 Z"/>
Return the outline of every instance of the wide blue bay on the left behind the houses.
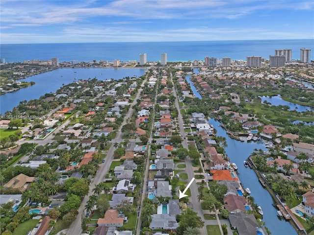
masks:
<path fill-rule="evenodd" d="M 38 99 L 46 93 L 54 93 L 63 84 L 69 84 L 79 79 L 97 78 L 105 79 L 122 79 L 129 76 L 142 76 L 145 69 L 112 69 L 112 68 L 62 68 L 34 76 L 21 79 L 19 81 L 33 81 L 35 85 L 20 89 L 16 92 L 0 95 L 0 114 L 4 115 L 6 111 L 11 111 L 23 100 Z"/>

